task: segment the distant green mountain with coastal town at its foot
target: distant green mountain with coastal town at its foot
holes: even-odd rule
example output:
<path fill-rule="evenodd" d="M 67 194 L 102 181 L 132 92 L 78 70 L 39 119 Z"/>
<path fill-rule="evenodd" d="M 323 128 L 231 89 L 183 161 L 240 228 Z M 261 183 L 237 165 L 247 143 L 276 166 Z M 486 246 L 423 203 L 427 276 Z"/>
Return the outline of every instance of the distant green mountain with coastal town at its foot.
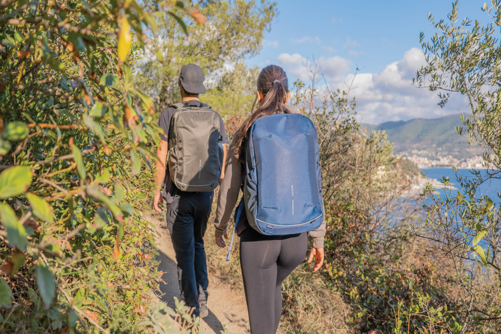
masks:
<path fill-rule="evenodd" d="M 361 124 L 360 130 L 366 134 L 373 130 L 385 130 L 397 154 L 431 159 L 449 155 L 456 159 L 466 159 L 481 155 L 483 149 L 480 146 L 469 145 L 468 140 L 456 132 L 455 127 L 462 126 L 460 117 L 457 114 L 436 119 L 415 118 L 407 122 Z"/>

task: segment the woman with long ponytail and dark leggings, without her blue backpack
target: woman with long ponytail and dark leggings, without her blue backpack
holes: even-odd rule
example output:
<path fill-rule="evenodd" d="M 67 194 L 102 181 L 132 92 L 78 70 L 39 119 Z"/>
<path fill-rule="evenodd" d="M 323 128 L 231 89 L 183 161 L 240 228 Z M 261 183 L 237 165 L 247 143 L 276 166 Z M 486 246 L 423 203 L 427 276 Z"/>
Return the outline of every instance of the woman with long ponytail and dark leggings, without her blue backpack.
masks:
<path fill-rule="evenodd" d="M 214 225 L 215 242 L 225 247 L 226 227 L 238 199 L 244 177 L 244 150 L 248 130 L 260 117 L 281 113 L 299 113 L 287 106 L 289 83 L 284 70 L 270 65 L 261 71 L 257 83 L 258 107 L 245 119 L 233 135 L 226 161 L 225 177 L 221 183 Z M 256 101 L 255 101 L 256 104 Z M 245 219 L 237 222 L 240 236 L 240 268 L 252 334 L 275 334 L 282 315 L 282 282 L 303 261 L 308 249 L 307 233 L 293 235 L 264 235 L 250 227 Z M 308 263 L 315 257 L 317 271 L 324 261 L 325 221 L 315 231 Z"/>

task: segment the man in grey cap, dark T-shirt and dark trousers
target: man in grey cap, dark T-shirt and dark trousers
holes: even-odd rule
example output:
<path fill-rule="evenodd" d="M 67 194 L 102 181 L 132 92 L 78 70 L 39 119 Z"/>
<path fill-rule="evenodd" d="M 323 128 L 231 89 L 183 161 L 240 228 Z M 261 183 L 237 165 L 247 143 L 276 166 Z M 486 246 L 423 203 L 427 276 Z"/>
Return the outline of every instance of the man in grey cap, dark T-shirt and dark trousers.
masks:
<path fill-rule="evenodd" d="M 176 109 L 191 108 L 191 110 L 196 111 L 198 110 L 197 108 L 208 108 L 204 109 L 205 112 L 208 112 L 209 116 L 212 115 L 211 117 L 213 120 L 212 112 L 215 113 L 219 119 L 218 138 L 224 152 L 219 184 L 224 177 L 224 163 L 226 160 L 226 145 L 224 144 L 228 142 L 228 138 L 224 131 L 224 123 L 219 114 L 211 110 L 207 105 L 202 104 L 198 99 L 199 94 L 204 94 L 206 92 L 203 86 L 204 78 L 205 75 L 200 67 L 194 64 L 185 65 L 181 69 L 178 80 L 182 104 L 171 106 L 160 115 L 158 126 L 162 128 L 163 133 L 160 133 L 161 140 L 157 148 L 159 161 L 157 161 L 156 189 L 153 199 L 154 209 L 162 211 L 158 205 L 158 201 L 160 200 L 160 189 L 162 189 L 163 185 L 163 198 L 167 202 L 167 226 L 176 253 L 177 275 L 179 279 L 179 288 L 181 290 L 181 298 L 185 301 L 186 305 L 195 307 L 193 314 L 200 315 L 201 317 L 208 315 L 206 290 L 209 282 L 207 278 L 207 263 L 205 261 L 203 235 L 207 228 L 207 220 L 212 208 L 214 192 L 213 190 L 192 191 L 193 188 L 190 188 L 190 191 L 180 190 L 176 187 L 176 184 L 181 188 L 183 184 L 176 180 L 173 182 L 171 179 L 171 176 L 173 178 L 175 178 L 175 176 L 170 175 L 169 170 L 166 170 L 166 158 L 169 152 L 169 140 L 171 145 L 173 145 L 172 140 L 174 137 L 170 138 L 170 126 L 171 123 L 174 124 L 174 122 L 172 122 L 172 116 Z M 193 115 L 196 115 L 196 113 Z M 215 119 L 214 122 L 217 125 L 217 119 Z M 193 133 L 196 133 L 196 129 L 194 130 L 195 132 Z M 202 129 L 200 129 L 200 131 L 201 130 Z M 177 132 L 173 136 L 176 135 Z M 206 143 L 200 143 L 200 146 L 204 144 Z M 195 167 L 198 168 L 198 161 L 196 162 L 197 164 Z M 200 169 L 204 168 L 202 165 L 200 160 Z M 188 167 L 193 167 L 193 164 Z M 217 186 L 217 180 L 213 183 L 213 187 L 215 186 Z"/>

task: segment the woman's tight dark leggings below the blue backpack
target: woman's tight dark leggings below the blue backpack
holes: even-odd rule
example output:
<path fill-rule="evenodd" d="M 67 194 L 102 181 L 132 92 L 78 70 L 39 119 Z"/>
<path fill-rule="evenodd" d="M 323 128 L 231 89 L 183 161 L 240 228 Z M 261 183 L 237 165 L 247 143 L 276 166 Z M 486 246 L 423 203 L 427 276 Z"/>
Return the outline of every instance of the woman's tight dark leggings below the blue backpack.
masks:
<path fill-rule="evenodd" d="M 275 334 L 282 315 L 282 282 L 303 261 L 307 233 L 269 236 L 248 227 L 240 234 L 240 267 L 252 334 Z"/>

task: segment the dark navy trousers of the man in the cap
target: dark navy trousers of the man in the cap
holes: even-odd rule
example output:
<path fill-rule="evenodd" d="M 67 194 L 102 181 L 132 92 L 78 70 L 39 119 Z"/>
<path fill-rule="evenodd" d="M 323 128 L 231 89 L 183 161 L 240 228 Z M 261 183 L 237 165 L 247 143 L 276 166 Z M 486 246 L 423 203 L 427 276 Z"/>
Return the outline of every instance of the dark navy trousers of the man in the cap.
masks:
<path fill-rule="evenodd" d="M 181 298 L 187 306 L 196 307 L 207 299 L 209 284 L 203 236 L 212 208 L 213 191 L 185 192 L 176 189 L 172 203 L 167 204 L 167 226 L 177 260 L 177 277 Z"/>

